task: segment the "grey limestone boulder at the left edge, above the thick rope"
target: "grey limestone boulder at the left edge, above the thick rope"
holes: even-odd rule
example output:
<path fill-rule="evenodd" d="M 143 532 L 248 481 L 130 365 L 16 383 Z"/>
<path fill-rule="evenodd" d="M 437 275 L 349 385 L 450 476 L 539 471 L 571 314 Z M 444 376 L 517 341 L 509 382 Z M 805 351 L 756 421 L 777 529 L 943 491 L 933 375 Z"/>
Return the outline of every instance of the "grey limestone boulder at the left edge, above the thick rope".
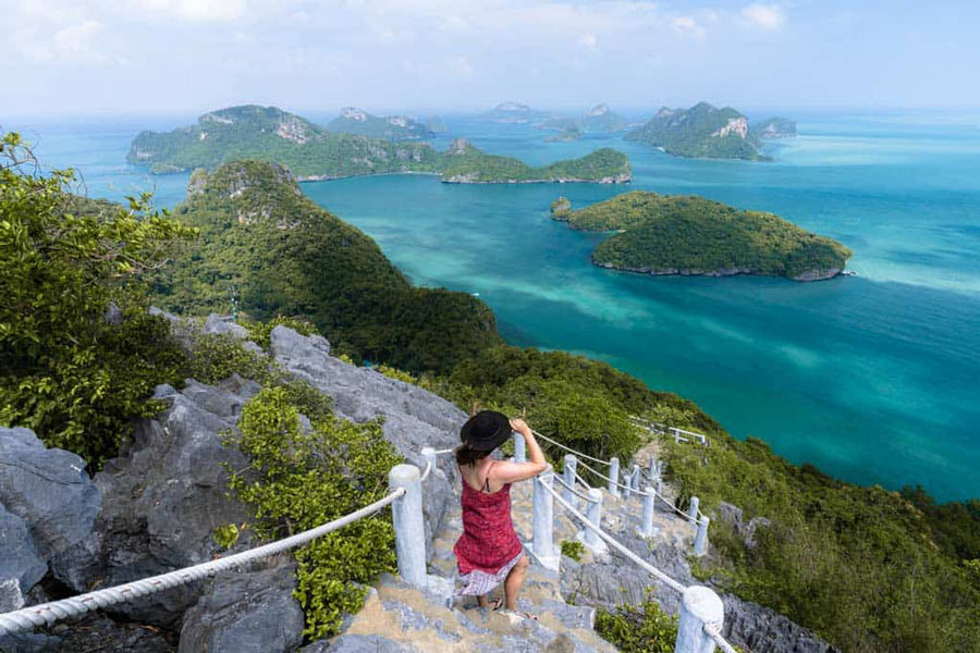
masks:
<path fill-rule="evenodd" d="M 85 460 L 29 429 L 0 428 L 0 505 L 26 522 L 41 558 L 85 538 L 101 502 Z"/>

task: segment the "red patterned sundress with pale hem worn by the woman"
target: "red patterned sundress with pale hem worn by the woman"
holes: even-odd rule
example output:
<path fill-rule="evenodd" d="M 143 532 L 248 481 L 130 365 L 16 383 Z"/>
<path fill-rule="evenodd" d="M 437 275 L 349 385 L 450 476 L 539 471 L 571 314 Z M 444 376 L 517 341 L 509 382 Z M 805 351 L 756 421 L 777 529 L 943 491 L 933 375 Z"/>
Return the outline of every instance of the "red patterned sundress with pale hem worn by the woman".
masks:
<path fill-rule="evenodd" d="M 489 479 L 483 485 L 489 489 Z M 453 546 L 462 594 L 486 594 L 507 577 L 524 547 L 511 521 L 511 484 L 478 492 L 463 479 L 463 534 Z"/>

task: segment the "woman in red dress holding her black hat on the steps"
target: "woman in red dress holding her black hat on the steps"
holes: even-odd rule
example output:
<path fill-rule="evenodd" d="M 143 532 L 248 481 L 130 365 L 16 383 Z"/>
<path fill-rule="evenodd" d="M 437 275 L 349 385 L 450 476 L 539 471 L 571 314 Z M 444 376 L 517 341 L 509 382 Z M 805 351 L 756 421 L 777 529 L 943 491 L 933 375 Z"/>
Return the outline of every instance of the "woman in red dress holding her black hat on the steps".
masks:
<path fill-rule="evenodd" d="M 529 463 L 490 457 L 512 430 L 524 436 Z M 460 434 L 463 444 L 456 448 L 456 464 L 463 476 L 463 534 L 453 547 L 463 580 L 460 593 L 476 595 L 480 607 L 488 607 L 490 590 L 503 582 L 507 615 L 512 619 L 534 618 L 517 612 L 528 559 L 511 521 L 511 483 L 544 471 L 544 454 L 524 420 L 509 420 L 494 410 L 477 412 Z M 493 609 L 500 606 L 498 599 Z"/>

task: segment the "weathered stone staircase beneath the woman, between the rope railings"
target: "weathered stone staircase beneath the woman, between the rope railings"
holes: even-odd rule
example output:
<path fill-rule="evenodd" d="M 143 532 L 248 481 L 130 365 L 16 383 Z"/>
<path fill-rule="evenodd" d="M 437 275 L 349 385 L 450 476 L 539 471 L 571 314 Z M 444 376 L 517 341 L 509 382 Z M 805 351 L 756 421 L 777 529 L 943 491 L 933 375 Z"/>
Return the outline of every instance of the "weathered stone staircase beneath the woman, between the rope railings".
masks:
<path fill-rule="evenodd" d="M 530 481 L 516 483 L 511 490 L 514 527 L 525 542 L 531 537 L 532 493 Z M 563 540 L 575 540 L 580 529 L 560 506 L 555 505 L 554 510 L 554 543 L 559 546 Z M 617 498 L 603 490 L 602 522 L 612 533 L 636 530 L 640 522 L 640 501 L 636 497 Z M 662 510 L 656 513 L 654 522 L 657 538 L 670 541 L 678 550 L 690 550 L 694 528 L 688 522 Z M 534 556 L 530 556 L 531 565 L 518 599 L 518 608 L 536 615 L 537 621 L 526 619 L 515 625 L 505 615 L 476 607 L 475 597 L 455 596 L 457 571 L 453 544 L 462 529 L 457 501 L 442 519 L 441 528 L 432 540 L 428 591 L 414 589 L 393 576 L 383 576 L 342 636 L 329 644 L 320 643 L 323 648 L 307 648 L 305 653 L 589 653 L 616 650 L 595 632 L 596 608 L 572 604 L 569 600 L 574 601 L 574 593 L 563 595 L 563 570 L 547 569 L 537 564 Z M 608 559 L 608 554 L 592 554 L 586 550 L 579 564 Z M 563 558 L 563 565 L 577 566 L 567 558 Z M 642 575 L 639 570 L 637 574 Z M 493 596 L 497 595 L 503 595 L 503 586 L 494 590 Z"/>

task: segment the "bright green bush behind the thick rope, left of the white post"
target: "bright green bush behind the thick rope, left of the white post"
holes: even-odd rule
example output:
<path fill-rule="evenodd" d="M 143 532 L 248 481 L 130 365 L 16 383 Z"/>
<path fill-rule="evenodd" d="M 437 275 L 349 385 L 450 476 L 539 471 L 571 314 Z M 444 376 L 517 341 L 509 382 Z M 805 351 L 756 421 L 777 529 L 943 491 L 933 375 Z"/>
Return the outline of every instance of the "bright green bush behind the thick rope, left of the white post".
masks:
<path fill-rule="evenodd" d="M 388 471 L 401 461 L 380 421 L 310 417 L 307 431 L 299 412 L 281 387 L 262 390 L 242 411 L 234 444 L 248 467 L 233 470 L 230 485 L 255 510 L 261 537 L 301 532 L 382 498 Z M 299 550 L 296 562 L 304 634 L 335 634 L 343 616 L 364 603 L 359 583 L 394 569 L 391 521 L 380 514 L 359 519 Z"/>

